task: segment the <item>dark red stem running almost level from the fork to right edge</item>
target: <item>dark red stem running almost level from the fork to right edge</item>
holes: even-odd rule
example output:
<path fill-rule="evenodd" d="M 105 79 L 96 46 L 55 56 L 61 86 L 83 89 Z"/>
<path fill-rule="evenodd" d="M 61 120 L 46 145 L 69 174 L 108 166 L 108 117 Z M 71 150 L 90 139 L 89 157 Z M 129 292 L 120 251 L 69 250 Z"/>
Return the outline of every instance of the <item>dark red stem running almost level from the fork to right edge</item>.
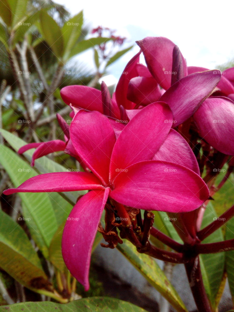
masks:
<path fill-rule="evenodd" d="M 227 241 L 219 241 L 210 244 L 197 244 L 194 247 L 196 252 L 199 254 L 229 251 L 234 250 L 234 239 L 229 239 Z"/>

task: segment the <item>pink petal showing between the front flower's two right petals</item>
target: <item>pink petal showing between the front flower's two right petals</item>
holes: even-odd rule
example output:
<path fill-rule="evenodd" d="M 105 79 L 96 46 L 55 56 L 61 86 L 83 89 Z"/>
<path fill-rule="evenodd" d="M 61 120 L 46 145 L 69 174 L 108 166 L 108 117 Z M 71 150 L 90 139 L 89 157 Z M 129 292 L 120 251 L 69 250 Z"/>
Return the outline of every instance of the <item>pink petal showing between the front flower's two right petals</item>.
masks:
<path fill-rule="evenodd" d="M 200 175 L 197 159 L 192 149 L 186 140 L 173 129 L 170 130 L 165 141 L 152 159 L 182 165 Z"/>

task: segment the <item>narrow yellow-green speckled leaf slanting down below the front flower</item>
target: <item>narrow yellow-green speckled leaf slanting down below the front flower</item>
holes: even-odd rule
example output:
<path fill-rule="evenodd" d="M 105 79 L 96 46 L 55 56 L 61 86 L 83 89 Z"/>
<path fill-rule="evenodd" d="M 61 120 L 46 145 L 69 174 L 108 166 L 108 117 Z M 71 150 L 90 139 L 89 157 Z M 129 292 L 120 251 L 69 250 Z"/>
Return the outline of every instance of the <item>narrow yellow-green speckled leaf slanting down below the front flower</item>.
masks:
<path fill-rule="evenodd" d="M 136 247 L 127 240 L 124 240 L 123 244 L 118 244 L 117 248 L 178 312 L 188 311 L 178 293 L 153 258 L 137 252 Z"/>

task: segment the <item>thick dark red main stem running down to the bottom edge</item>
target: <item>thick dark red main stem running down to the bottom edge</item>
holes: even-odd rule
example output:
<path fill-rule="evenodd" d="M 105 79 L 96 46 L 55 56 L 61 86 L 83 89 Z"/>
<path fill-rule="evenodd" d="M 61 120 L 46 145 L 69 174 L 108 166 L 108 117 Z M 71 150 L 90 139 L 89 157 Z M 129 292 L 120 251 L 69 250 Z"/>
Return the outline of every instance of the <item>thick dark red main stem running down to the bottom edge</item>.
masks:
<path fill-rule="evenodd" d="M 199 256 L 190 259 L 184 266 L 198 312 L 212 312 L 202 281 Z"/>

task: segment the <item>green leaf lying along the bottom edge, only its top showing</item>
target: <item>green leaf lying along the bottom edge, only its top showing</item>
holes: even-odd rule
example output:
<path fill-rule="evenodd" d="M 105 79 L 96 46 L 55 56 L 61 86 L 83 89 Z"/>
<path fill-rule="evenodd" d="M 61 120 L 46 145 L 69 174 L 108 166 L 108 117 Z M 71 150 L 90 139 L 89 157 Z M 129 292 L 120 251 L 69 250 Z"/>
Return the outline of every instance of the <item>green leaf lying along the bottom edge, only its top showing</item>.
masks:
<path fill-rule="evenodd" d="M 14 305 L 0 306 L 0 312 L 147 312 L 132 303 L 109 298 L 109 297 L 90 297 L 83 298 L 61 305 L 59 303 L 42 301 L 42 302 L 20 302 Z"/>

